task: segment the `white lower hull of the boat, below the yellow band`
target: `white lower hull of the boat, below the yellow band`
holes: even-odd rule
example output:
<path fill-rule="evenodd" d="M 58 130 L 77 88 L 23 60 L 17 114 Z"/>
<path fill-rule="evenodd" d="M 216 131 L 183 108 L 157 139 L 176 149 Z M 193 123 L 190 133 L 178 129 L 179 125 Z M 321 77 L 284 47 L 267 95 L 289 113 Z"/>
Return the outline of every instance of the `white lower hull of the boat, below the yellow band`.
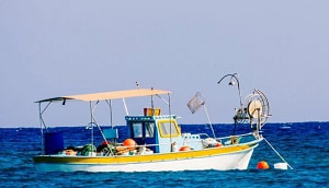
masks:
<path fill-rule="evenodd" d="M 120 164 L 35 163 L 35 167 L 41 172 L 166 172 L 247 169 L 256 146 L 258 146 L 258 144 L 235 153 L 180 160 Z"/>

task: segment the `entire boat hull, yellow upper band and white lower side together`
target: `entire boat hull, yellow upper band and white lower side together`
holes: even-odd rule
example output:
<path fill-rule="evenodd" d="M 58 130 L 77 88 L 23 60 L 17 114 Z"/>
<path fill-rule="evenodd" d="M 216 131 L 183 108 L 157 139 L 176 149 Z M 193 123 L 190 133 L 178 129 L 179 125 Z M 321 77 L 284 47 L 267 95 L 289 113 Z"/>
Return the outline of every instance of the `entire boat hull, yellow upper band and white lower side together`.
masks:
<path fill-rule="evenodd" d="M 252 144 L 205 149 L 138 156 L 61 156 L 39 155 L 34 157 L 39 172 L 167 172 L 167 171 L 229 171 L 247 169 Z"/>

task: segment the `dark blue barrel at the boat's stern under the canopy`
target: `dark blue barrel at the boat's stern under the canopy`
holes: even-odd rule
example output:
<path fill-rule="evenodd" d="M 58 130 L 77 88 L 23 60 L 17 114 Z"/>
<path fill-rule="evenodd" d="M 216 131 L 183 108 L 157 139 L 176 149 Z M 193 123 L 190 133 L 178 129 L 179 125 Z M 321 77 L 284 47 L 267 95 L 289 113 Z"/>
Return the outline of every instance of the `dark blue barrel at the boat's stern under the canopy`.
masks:
<path fill-rule="evenodd" d="M 64 139 L 61 132 L 46 132 L 45 133 L 45 154 L 58 154 L 64 150 Z"/>

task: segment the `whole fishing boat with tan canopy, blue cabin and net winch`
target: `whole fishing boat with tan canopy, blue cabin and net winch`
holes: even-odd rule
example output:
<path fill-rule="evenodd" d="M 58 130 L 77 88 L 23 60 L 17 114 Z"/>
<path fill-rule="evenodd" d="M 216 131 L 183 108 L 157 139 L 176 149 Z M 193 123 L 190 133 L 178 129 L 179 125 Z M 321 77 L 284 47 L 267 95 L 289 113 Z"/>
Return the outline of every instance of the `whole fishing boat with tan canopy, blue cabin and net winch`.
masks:
<path fill-rule="evenodd" d="M 33 157 L 41 172 L 164 172 L 164 171 L 228 171 L 247 169 L 253 150 L 263 140 L 261 127 L 268 116 L 268 99 L 256 90 L 234 116 L 235 124 L 250 124 L 250 132 L 223 138 L 207 133 L 182 132 L 178 116 L 171 114 L 170 91 L 137 89 L 52 97 L 37 101 L 39 107 L 42 151 Z M 94 110 L 100 102 L 111 106 L 113 99 L 150 97 L 150 106 L 139 115 L 125 116 L 127 137 L 121 140 L 115 126 L 101 127 Z M 155 108 L 154 97 L 160 97 L 167 114 Z M 53 132 L 46 126 L 43 114 L 52 103 L 67 104 L 71 101 L 89 103 L 91 131 L 97 129 L 103 141 L 95 143 L 91 136 L 86 145 L 65 146 L 65 132 Z M 195 98 L 190 102 L 195 102 Z M 203 103 L 204 104 L 204 103 Z M 202 105 L 203 105 L 202 104 Z M 189 103 L 191 106 L 191 103 Z M 111 108 L 112 110 L 112 108 Z M 95 127 L 95 128 L 93 128 Z M 213 128 L 212 128 L 213 129 Z"/>

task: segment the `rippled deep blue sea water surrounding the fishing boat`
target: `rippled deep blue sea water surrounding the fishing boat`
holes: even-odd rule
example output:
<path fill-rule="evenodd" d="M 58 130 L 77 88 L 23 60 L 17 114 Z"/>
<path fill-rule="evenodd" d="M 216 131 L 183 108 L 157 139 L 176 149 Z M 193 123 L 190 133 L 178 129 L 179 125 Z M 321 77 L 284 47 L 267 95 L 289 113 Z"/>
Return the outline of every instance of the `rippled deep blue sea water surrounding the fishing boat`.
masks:
<path fill-rule="evenodd" d="M 240 131 L 247 126 L 238 126 Z M 118 127 L 125 136 L 125 127 Z M 66 146 L 86 144 L 90 138 L 84 127 L 54 128 L 68 131 Z M 231 133 L 232 125 L 214 125 L 217 137 Z M 207 125 L 182 125 L 185 132 L 206 132 Z M 237 130 L 237 133 L 239 132 Z M 275 169 L 282 162 L 266 142 L 254 150 L 247 171 L 190 171 L 161 173 L 41 173 L 32 157 L 41 151 L 39 129 L 0 129 L 1 187 L 329 187 L 329 122 L 268 124 L 264 138 L 294 169 Z M 87 140 L 86 140 L 87 139 Z M 95 136 L 95 140 L 100 139 Z M 100 140 L 101 141 L 101 140 Z M 270 169 L 257 169 L 259 161 Z"/>

